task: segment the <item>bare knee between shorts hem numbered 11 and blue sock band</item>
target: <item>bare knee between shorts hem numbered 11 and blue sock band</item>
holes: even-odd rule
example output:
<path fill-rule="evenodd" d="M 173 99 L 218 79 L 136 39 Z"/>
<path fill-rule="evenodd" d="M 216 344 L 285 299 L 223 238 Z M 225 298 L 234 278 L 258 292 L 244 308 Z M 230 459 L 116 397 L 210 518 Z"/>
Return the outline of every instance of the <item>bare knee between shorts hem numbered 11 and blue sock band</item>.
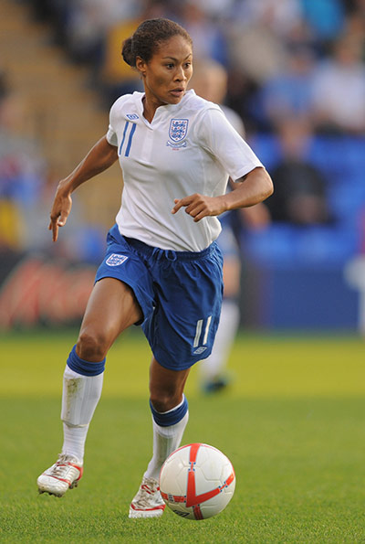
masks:
<path fill-rule="evenodd" d="M 190 368 L 171 370 L 164 368 L 156 360 L 151 360 L 150 394 L 151 403 L 157 411 L 172 410 L 183 400 L 183 389 L 189 376 Z"/>

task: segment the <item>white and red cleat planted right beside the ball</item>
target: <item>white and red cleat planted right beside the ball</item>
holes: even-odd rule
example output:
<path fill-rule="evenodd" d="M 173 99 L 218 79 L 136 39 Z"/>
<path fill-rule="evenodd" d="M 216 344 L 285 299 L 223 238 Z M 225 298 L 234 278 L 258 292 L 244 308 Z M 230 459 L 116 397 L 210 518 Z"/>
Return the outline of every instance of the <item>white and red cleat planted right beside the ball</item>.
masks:
<path fill-rule="evenodd" d="M 159 482 L 143 477 L 140 489 L 130 503 L 129 517 L 160 517 L 165 507 Z"/>

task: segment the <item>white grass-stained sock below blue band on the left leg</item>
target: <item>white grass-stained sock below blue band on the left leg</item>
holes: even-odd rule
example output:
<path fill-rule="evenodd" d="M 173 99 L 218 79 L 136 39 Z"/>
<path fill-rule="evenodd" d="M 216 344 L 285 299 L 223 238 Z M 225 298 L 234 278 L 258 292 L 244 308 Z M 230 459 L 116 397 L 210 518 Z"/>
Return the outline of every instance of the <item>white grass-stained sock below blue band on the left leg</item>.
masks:
<path fill-rule="evenodd" d="M 64 428 L 62 453 L 83 462 L 89 422 L 101 395 L 104 374 L 84 376 L 65 368 L 61 420 Z"/>

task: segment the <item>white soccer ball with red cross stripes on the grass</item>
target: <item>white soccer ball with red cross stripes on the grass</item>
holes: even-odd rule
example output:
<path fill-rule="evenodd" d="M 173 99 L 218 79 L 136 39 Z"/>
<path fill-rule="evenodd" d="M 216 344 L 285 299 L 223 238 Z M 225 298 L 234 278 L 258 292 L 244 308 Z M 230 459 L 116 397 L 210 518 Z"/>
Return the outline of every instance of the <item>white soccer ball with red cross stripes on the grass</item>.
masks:
<path fill-rule="evenodd" d="M 224 453 L 213 446 L 188 444 L 172 452 L 162 465 L 160 492 L 178 516 L 216 516 L 234 496 L 235 470 Z"/>

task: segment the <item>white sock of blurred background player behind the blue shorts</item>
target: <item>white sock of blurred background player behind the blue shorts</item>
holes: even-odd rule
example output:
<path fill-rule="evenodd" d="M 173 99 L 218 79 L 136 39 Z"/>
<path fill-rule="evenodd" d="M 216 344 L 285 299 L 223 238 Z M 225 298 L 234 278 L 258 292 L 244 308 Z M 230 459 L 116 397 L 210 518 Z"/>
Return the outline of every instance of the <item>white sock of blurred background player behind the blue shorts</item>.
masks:
<path fill-rule="evenodd" d="M 214 379 L 226 367 L 235 342 L 239 318 L 238 303 L 232 299 L 224 299 L 213 351 L 209 357 L 199 363 L 200 376 L 203 380 Z"/>

